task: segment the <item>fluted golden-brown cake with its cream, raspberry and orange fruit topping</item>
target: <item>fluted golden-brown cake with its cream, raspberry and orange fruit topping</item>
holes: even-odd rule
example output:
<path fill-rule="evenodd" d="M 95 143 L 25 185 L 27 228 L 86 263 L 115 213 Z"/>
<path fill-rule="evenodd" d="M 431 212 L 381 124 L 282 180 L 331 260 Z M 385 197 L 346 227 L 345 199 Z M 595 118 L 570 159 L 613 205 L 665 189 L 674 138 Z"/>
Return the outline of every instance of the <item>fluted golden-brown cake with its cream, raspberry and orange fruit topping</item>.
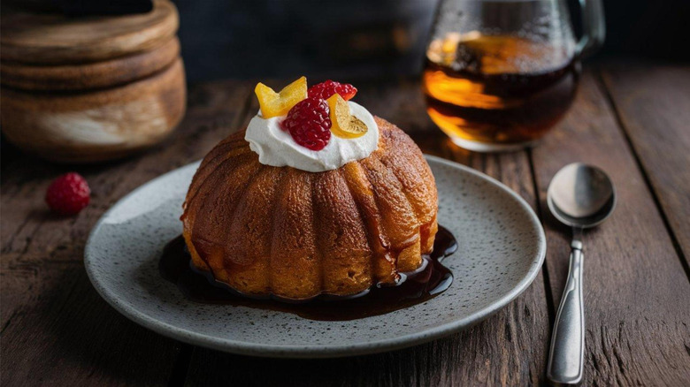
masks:
<path fill-rule="evenodd" d="M 395 285 L 430 254 L 433 175 L 351 85 L 259 83 L 247 129 L 211 149 L 181 216 L 192 265 L 252 297 L 310 300 Z"/>

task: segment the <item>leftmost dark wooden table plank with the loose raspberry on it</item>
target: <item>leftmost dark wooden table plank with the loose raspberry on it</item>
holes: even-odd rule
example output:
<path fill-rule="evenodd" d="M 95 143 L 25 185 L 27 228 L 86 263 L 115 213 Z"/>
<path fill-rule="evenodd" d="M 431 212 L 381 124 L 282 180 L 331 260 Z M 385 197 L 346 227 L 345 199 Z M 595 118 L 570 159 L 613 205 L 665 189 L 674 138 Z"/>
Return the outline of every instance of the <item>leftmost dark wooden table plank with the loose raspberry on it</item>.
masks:
<path fill-rule="evenodd" d="M 161 385 L 175 375 L 185 346 L 115 312 L 89 284 L 81 261 L 88 232 L 105 209 L 150 178 L 201 158 L 238 125 L 250 88 L 242 82 L 216 87 L 212 93 L 193 87 L 187 118 L 170 139 L 141 156 L 63 166 L 14 149 L 4 154 L 4 384 Z M 50 180 L 65 171 L 79 171 L 93 191 L 91 204 L 79 216 L 52 216 L 43 203 Z"/>

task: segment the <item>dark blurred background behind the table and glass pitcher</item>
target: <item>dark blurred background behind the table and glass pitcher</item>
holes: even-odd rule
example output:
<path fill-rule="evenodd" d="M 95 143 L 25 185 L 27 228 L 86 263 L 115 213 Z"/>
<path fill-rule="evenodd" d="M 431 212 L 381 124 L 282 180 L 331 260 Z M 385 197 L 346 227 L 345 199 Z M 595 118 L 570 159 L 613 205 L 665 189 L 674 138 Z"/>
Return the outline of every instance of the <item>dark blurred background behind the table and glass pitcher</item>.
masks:
<path fill-rule="evenodd" d="M 578 25 L 578 3 L 568 1 Z M 173 2 L 194 81 L 415 74 L 438 0 Z M 592 60 L 690 59 L 690 0 L 605 0 L 604 6 L 608 35 Z"/>

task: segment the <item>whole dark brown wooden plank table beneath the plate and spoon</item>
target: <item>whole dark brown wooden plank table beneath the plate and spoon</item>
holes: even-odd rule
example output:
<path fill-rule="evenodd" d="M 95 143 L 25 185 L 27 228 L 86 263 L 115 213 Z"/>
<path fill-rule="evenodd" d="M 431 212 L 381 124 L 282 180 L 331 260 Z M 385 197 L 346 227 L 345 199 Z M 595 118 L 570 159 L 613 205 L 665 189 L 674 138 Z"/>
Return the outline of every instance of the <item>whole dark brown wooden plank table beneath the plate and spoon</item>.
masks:
<path fill-rule="evenodd" d="M 274 86 L 283 81 L 269 82 Z M 547 232 L 539 277 L 471 330 L 391 353 L 272 360 L 164 338 L 126 320 L 89 284 L 84 244 L 115 201 L 195 161 L 257 111 L 251 81 L 190 87 L 173 137 L 141 156 L 60 166 L 2 149 L 3 385 L 484 385 L 545 379 L 570 231 L 544 204 L 563 165 L 594 163 L 619 194 L 615 214 L 585 235 L 586 383 L 690 385 L 690 67 L 589 65 L 577 101 L 531 150 L 481 155 L 456 148 L 426 117 L 416 80 L 357 82 L 357 100 L 408 131 L 427 153 L 498 178 L 533 205 Z M 43 203 L 50 180 L 79 171 L 93 194 L 74 217 Z"/>

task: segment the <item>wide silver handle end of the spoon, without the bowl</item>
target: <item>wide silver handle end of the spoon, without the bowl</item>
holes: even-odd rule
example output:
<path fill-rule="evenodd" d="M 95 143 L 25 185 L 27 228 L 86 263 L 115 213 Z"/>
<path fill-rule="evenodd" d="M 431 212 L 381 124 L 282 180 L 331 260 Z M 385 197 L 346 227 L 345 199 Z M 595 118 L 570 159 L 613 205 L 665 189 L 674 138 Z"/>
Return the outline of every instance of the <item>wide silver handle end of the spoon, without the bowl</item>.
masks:
<path fill-rule="evenodd" d="M 582 304 L 582 243 L 573 240 L 568 281 L 556 314 L 547 377 L 554 383 L 579 383 L 585 353 L 585 310 Z"/>

